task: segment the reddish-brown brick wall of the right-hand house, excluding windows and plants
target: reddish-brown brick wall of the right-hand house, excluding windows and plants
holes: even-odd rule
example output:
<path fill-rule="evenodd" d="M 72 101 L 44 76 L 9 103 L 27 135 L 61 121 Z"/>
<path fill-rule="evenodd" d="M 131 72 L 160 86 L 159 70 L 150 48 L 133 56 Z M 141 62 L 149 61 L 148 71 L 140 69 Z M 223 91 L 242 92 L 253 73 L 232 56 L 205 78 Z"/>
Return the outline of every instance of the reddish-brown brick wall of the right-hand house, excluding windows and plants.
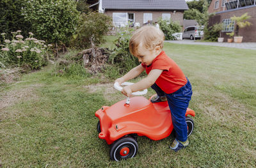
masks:
<path fill-rule="evenodd" d="M 251 16 L 251 18 L 247 21 L 251 22 L 252 25 L 239 29 L 239 35 L 243 36 L 243 42 L 256 42 L 256 6 L 216 13 L 216 15 L 209 19 L 209 25 L 212 26 L 216 23 L 220 23 L 223 21 L 223 19 L 230 19 L 230 17 L 233 17 L 234 15 L 236 17 L 240 17 L 246 12 Z M 229 37 L 226 33 L 227 32 L 221 33 L 221 37 L 224 37 L 224 41 L 227 41 L 227 38 Z"/>

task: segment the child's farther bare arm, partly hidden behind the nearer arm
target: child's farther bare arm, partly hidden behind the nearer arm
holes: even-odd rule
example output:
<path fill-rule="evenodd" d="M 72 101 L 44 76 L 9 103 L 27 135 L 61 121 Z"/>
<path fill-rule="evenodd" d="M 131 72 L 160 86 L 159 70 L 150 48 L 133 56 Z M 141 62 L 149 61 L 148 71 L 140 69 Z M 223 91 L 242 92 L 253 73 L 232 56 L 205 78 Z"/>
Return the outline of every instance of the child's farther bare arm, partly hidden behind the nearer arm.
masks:
<path fill-rule="evenodd" d="M 116 79 L 115 82 L 122 84 L 122 82 L 126 82 L 127 80 L 133 79 L 134 77 L 138 77 L 138 75 L 140 75 L 140 73 L 143 72 L 145 69 L 146 68 L 144 68 L 142 65 L 138 65 L 138 66 L 132 68 L 123 77 Z"/>

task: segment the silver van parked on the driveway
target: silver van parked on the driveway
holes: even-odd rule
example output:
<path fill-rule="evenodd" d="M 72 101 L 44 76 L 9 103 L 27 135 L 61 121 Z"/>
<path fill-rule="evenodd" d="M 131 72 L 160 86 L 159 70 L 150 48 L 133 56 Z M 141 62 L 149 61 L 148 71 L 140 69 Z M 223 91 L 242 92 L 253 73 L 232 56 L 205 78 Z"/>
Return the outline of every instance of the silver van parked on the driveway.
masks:
<path fill-rule="evenodd" d="M 194 40 L 194 38 L 202 38 L 203 35 L 204 26 L 188 26 L 182 33 L 182 39 L 190 38 L 190 40 Z"/>

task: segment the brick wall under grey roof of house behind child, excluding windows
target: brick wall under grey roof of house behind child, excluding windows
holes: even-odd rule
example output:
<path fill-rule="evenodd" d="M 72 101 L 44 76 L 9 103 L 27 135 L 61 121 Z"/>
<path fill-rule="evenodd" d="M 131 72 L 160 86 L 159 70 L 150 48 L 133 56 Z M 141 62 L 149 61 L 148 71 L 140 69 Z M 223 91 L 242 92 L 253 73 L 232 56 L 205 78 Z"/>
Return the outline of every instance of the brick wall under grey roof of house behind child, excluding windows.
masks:
<path fill-rule="evenodd" d="M 105 11 L 106 15 L 109 15 L 110 17 L 113 18 L 113 12 L 115 13 L 123 13 L 123 12 L 128 12 L 128 13 L 134 13 L 135 14 L 135 20 L 134 22 L 140 22 L 140 26 L 143 25 L 143 13 L 152 13 L 152 21 L 153 23 L 159 20 L 159 18 L 162 17 L 162 13 L 171 13 L 171 19 L 173 21 L 179 21 L 180 26 L 183 26 L 183 11 L 176 11 L 173 13 L 173 11 Z"/>

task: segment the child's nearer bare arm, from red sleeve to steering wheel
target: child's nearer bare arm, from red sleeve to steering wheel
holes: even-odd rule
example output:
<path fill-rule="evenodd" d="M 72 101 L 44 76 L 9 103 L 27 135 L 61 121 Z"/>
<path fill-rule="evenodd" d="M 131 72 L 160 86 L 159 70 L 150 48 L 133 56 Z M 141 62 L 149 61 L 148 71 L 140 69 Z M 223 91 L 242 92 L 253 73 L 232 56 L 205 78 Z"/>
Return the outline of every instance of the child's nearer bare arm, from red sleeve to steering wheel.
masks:
<path fill-rule="evenodd" d="M 143 89 L 149 88 L 156 82 L 157 78 L 161 75 L 162 72 L 163 70 L 157 70 L 157 69 L 151 70 L 150 73 L 148 73 L 147 77 L 145 77 L 144 79 L 141 79 L 136 84 L 125 86 L 122 89 L 122 93 L 125 96 L 131 96 L 132 92 L 141 91 Z"/>

